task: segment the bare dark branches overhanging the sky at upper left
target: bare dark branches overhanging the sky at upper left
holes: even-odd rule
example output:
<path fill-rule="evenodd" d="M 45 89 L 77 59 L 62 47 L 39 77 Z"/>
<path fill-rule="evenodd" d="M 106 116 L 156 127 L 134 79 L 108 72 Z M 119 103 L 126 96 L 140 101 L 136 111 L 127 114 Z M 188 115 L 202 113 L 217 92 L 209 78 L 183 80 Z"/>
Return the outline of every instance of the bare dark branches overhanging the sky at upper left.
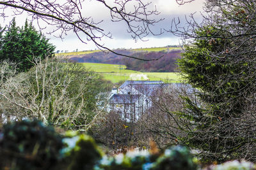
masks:
<path fill-rule="evenodd" d="M 92 2 L 90 2 L 92 3 Z M 157 22 L 163 19 L 150 19 L 154 15 L 159 15 L 159 12 L 155 10 L 148 10 L 152 8 L 151 3 L 144 3 L 143 1 L 102 1 L 95 0 L 93 3 L 98 3 L 109 10 L 112 22 L 124 21 L 127 26 L 127 31 L 131 34 L 132 38 L 143 40 L 149 34 L 157 35 L 152 32 L 151 26 L 157 24 Z M 77 37 L 83 42 L 93 41 L 93 43 L 100 50 L 107 50 L 108 52 L 115 53 L 124 57 L 131 57 L 133 59 L 140 59 L 122 53 L 115 52 L 100 43 L 100 39 L 103 37 L 111 38 L 111 33 L 104 31 L 99 27 L 99 24 L 103 22 L 95 22 L 93 17 L 83 15 L 83 7 L 87 4 L 85 1 L 80 0 L 66 0 L 66 1 L 37 1 L 37 0 L 21 0 L 21 1 L 0 1 L 0 10 L 2 10 L 1 16 L 4 15 L 5 10 L 12 10 L 15 15 L 20 15 L 24 11 L 28 12 L 31 20 L 35 20 L 38 23 L 40 29 L 42 22 L 47 25 L 54 25 L 56 29 L 48 32 L 49 34 L 60 32 L 59 37 L 67 35 L 68 32 L 75 32 Z M 133 6 L 133 8 L 131 8 Z M 81 33 L 82 34 L 81 34 Z M 158 34 L 162 34 L 160 31 Z M 163 57 L 163 56 L 161 56 Z M 157 60 L 161 57 L 157 57 Z M 140 59 L 140 60 L 152 60 L 152 59 Z"/>

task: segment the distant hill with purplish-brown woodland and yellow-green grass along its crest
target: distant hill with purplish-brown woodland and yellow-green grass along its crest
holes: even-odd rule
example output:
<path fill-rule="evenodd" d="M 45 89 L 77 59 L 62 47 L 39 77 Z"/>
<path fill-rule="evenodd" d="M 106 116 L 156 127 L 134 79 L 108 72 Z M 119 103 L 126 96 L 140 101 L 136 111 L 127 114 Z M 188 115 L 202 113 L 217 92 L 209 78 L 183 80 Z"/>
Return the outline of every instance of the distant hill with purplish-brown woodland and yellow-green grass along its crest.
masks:
<path fill-rule="evenodd" d="M 123 57 L 111 52 L 84 51 L 72 53 L 58 53 L 59 57 L 65 57 L 74 62 L 90 62 L 90 63 L 104 63 L 104 64 L 122 64 L 127 66 L 127 69 L 141 72 L 161 72 L 170 73 L 175 72 L 177 67 L 177 59 L 180 59 L 182 49 L 178 47 L 158 47 L 158 48 L 138 48 L 138 49 L 118 49 L 116 53 L 122 53 L 128 56 L 138 57 L 140 59 L 152 59 L 150 61 L 136 60 L 129 57 Z M 159 58 L 159 60 L 154 60 Z M 108 71 L 105 71 L 108 72 Z"/>

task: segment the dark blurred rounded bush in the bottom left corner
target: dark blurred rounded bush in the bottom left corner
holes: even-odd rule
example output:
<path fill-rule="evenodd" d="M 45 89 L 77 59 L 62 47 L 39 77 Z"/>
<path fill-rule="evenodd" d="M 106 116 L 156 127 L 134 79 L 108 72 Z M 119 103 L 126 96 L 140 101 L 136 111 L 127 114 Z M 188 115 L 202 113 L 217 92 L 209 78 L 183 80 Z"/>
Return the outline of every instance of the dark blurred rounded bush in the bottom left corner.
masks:
<path fill-rule="evenodd" d="M 6 124 L 0 137 L 0 169 L 53 169 L 63 148 L 61 140 L 52 127 L 36 120 Z"/>

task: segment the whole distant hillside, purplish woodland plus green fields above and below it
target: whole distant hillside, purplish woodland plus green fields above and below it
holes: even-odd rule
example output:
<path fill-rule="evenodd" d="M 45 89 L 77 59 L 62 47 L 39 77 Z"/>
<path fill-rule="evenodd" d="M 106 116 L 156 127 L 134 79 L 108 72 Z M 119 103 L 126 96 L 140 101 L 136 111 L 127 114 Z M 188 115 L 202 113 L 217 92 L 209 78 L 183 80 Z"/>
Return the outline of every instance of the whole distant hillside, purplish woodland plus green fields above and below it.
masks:
<path fill-rule="evenodd" d="M 178 51 L 177 51 L 178 50 Z M 143 62 L 141 60 L 132 60 L 127 57 L 120 57 L 113 53 L 104 53 L 100 50 L 84 51 L 84 52 L 69 52 L 58 53 L 56 56 L 67 57 L 76 62 L 79 62 L 84 67 L 100 73 L 106 80 L 110 80 L 113 83 L 125 80 L 169 80 L 171 82 L 179 82 L 180 75 L 177 73 L 154 73 L 149 71 L 158 70 L 159 68 L 175 67 L 175 60 L 179 58 L 179 47 L 157 47 L 157 48 L 137 48 L 132 50 L 118 49 L 116 52 L 124 53 L 126 55 L 138 55 L 143 54 L 143 57 L 147 59 L 156 58 L 161 55 L 164 57 L 161 60 Z M 145 55 L 145 56 L 144 56 Z M 93 63 L 97 62 L 97 63 Z M 109 64 L 100 64 L 109 63 Z M 115 64 L 113 64 L 115 63 Z M 131 69 L 127 69 L 127 64 Z M 165 65 L 164 65 L 165 64 Z M 166 65 L 167 64 L 167 65 Z M 147 73 L 135 70 L 144 70 Z M 151 70 L 150 70 L 151 69 Z M 168 69 L 170 72 L 172 69 Z"/>

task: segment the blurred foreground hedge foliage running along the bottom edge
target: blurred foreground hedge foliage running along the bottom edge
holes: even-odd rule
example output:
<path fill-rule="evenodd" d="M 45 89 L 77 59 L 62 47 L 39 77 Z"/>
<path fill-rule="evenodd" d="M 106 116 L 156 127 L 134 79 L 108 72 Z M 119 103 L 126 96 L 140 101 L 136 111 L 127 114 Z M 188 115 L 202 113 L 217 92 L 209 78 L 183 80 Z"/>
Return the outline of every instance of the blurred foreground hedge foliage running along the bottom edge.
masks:
<path fill-rule="evenodd" d="M 86 134 L 58 134 L 38 120 L 4 125 L 0 131 L 0 169 L 200 169 L 188 148 L 173 146 L 163 153 L 152 150 L 104 155 Z M 208 169 L 255 169 L 250 162 L 234 160 Z"/>

